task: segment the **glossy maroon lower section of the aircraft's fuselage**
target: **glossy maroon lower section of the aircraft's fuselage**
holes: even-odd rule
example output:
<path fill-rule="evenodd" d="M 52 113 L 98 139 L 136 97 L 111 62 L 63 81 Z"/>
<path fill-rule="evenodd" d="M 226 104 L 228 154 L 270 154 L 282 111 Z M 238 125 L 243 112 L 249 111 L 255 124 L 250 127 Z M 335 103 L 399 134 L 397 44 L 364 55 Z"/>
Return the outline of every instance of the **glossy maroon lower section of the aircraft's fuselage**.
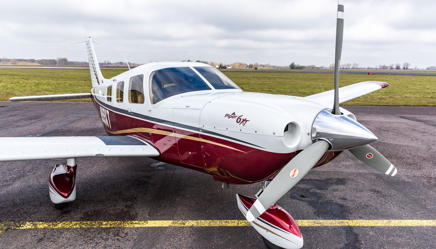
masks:
<path fill-rule="evenodd" d="M 102 118 L 104 114 L 100 113 L 100 104 L 94 98 L 92 101 L 100 118 Z M 105 107 L 105 109 L 108 108 Z M 116 113 L 111 109 L 108 110 L 110 128 L 103 121 L 102 123 L 109 136 L 138 136 L 152 143 L 160 151 L 160 156 L 153 157 L 153 159 L 210 174 L 214 176 L 216 181 L 250 184 L 271 179 L 301 151 L 292 153 L 268 152 L 193 130 L 174 128 Z M 137 132 L 137 128 L 177 133 L 189 136 L 190 139 L 153 132 Z M 132 131 L 119 134 L 111 133 L 120 130 Z"/>

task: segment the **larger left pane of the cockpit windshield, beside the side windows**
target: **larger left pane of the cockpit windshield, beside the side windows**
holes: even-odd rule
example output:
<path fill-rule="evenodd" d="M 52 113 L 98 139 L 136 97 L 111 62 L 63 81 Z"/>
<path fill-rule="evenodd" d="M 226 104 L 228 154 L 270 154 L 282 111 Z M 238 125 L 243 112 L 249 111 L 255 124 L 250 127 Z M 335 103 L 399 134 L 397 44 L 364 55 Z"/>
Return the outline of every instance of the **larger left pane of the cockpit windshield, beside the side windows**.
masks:
<path fill-rule="evenodd" d="M 191 68 L 164 68 L 150 75 L 150 101 L 152 104 L 171 96 L 211 88 Z"/>

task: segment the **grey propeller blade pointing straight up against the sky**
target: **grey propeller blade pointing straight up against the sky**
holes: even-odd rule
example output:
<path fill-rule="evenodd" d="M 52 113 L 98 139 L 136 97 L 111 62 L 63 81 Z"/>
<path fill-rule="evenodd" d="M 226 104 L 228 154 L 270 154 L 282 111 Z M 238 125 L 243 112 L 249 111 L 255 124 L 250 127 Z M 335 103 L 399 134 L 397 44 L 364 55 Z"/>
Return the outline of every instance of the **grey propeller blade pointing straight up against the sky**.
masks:
<path fill-rule="evenodd" d="M 341 115 L 339 110 L 339 65 L 341 64 L 342 40 L 344 38 L 344 0 L 337 2 L 336 50 L 334 55 L 334 104 L 332 113 Z"/>

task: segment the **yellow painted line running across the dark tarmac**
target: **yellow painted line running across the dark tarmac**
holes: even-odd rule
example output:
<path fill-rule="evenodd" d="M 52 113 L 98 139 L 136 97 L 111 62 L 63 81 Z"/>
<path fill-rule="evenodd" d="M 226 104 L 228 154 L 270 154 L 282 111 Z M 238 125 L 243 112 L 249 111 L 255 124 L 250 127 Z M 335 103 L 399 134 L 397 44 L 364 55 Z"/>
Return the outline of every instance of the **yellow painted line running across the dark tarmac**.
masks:
<path fill-rule="evenodd" d="M 436 226 L 436 220 L 296 220 L 299 226 Z M 249 226 L 246 220 L 0 222 L 6 229 Z"/>

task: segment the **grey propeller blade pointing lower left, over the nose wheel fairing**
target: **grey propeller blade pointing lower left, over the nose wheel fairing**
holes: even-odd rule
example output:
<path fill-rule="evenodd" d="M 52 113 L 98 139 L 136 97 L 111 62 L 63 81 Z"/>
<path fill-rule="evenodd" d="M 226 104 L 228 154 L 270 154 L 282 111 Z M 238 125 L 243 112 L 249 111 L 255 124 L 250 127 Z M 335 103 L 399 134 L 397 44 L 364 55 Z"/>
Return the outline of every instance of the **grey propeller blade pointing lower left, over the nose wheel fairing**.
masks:
<path fill-rule="evenodd" d="M 271 183 L 260 194 L 250 210 L 247 212 L 247 220 L 254 221 L 266 211 L 272 204 L 278 201 L 288 192 L 301 178 L 303 178 L 313 166 L 320 160 L 330 147 L 326 140 L 318 140 L 309 147 L 298 153 L 285 167 L 274 177 Z"/>

